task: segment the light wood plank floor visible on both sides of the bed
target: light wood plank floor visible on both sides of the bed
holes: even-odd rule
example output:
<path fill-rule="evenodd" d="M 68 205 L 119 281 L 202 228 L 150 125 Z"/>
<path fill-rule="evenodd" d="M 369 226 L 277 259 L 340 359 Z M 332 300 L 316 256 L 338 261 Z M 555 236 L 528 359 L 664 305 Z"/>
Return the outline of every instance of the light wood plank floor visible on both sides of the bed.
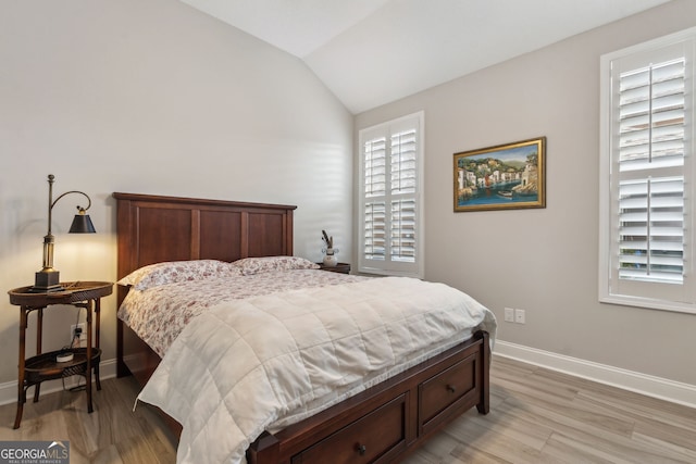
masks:
<path fill-rule="evenodd" d="M 696 410 L 495 356 L 490 413 L 475 409 L 409 456 L 408 464 L 696 463 Z M 174 463 L 175 440 L 133 404 L 130 377 L 102 381 L 95 412 L 84 392 L 0 406 L 0 440 L 70 440 L 71 463 Z M 331 464 L 331 463 L 320 463 Z"/>

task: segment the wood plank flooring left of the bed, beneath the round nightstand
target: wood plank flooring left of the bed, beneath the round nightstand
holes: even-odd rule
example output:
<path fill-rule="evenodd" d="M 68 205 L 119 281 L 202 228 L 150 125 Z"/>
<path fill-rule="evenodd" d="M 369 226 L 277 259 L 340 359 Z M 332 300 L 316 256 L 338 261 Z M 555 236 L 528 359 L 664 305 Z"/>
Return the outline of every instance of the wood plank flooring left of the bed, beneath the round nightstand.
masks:
<path fill-rule="evenodd" d="M 160 417 L 145 403 L 133 411 L 137 393 L 133 377 L 102 380 L 91 414 L 84 390 L 42 394 L 38 403 L 27 396 L 16 430 L 16 403 L 0 406 L 0 440 L 70 441 L 71 464 L 175 463 L 176 441 Z"/>

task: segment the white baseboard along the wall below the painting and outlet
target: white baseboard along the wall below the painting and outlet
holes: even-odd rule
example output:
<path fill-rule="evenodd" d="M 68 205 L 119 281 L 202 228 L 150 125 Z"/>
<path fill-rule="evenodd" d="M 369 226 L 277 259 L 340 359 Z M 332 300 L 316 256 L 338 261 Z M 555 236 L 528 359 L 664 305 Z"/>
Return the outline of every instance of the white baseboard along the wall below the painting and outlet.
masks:
<path fill-rule="evenodd" d="M 696 409 L 696 385 L 682 384 L 502 340 L 496 340 L 495 355 Z"/>

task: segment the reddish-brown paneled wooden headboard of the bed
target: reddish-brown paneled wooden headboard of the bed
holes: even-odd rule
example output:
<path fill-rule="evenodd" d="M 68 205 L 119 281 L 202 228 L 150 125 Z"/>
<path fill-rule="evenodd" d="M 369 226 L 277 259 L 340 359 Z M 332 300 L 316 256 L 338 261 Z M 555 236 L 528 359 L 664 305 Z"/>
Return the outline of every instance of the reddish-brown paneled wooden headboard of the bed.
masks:
<path fill-rule="evenodd" d="M 113 193 L 119 278 L 163 261 L 293 254 L 297 206 Z"/>

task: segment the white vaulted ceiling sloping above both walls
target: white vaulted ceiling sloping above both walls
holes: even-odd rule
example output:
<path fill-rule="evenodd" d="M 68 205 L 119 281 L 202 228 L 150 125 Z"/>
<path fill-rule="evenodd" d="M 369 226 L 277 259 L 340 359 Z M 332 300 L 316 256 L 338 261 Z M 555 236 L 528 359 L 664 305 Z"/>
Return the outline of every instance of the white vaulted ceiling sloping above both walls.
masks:
<path fill-rule="evenodd" d="M 182 0 L 296 55 L 353 114 L 669 0 Z"/>

